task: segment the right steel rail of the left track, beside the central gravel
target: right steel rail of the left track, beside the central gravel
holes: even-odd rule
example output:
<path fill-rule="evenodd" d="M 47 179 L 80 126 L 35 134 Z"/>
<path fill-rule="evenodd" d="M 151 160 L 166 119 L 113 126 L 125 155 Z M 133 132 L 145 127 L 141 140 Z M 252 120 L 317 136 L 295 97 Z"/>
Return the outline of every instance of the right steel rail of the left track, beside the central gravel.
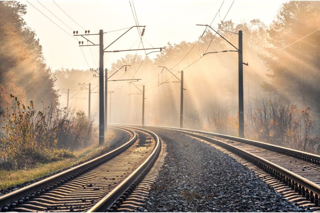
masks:
<path fill-rule="evenodd" d="M 123 182 L 121 182 L 116 188 L 114 188 L 110 193 L 108 193 L 104 198 L 102 198 L 98 203 L 96 203 L 88 212 L 103 212 L 106 209 L 109 209 L 116 201 L 128 190 L 128 188 L 134 184 L 134 182 L 140 177 L 140 175 L 148 168 L 148 166 L 156 160 L 160 150 L 161 150 L 161 140 L 159 137 L 149 130 L 140 129 L 137 127 L 129 127 L 123 125 L 110 125 L 111 127 L 124 127 L 124 128 L 132 128 L 135 130 L 140 130 L 147 132 L 152 135 L 156 139 L 156 145 L 152 153 L 148 156 L 148 158 L 136 169 L 132 172 L 129 177 L 127 177 Z"/>

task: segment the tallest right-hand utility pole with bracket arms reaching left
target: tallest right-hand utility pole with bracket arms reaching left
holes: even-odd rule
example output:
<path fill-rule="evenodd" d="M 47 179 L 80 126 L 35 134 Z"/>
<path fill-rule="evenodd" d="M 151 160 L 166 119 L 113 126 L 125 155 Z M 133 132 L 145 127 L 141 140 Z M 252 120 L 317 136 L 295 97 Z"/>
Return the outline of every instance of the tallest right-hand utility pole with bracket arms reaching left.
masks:
<path fill-rule="evenodd" d="M 211 28 L 216 34 L 220 35 L 216 30 L 214 30 L 210 25 L 197 24 L 198 26 L 206 26 Z M 238 35 L 239 43 L 238 48 L 236 48 L 232 43 L 230 43 L 226 38 L 222 35 L 220 37 L 227 41 L 231 46 L 233 46 L 236 50 L 224 50 L 219 52 L 238 52 L 238 95 L 239 95 L 239 138 L 244 138 L 244 100 L 243 100 L 243 65 L 249 66 L 248 63 L 243 62 L 243 47 L 242 47 L 242 30 L 239 30 L 238 33 L 234 33 Z M 207 52 L 209 53 L 219 53 L 219 52 Z"/>

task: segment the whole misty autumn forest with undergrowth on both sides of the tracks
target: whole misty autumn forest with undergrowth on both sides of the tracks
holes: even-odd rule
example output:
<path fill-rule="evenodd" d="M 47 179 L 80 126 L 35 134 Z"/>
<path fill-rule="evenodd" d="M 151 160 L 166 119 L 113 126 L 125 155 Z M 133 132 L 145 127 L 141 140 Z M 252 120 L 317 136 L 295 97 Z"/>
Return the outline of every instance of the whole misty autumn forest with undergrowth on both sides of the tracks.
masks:
<path fill-rule="evenodd" d="M 244 62 L 249 64 L 244 66 L 246 138 L 320 154 L 317 6 L 307 1 L 284 3 L 269 26 L 259 19 L 240 24 L 223 20 L 212 26 L 236 45 L 235 33 L 243 31 Z M 41 38 L 22 18 L 25 13 L 25 4 L 0 2 L 0 156 L 2 162 L 16 165 L 15 156 L 23 153 L 34 153 L 34 159 L 40 159 L 36 156 L 46 155 L 41 150 L 55 150 L 63 157 L 88 146 L 99 112 L 98 95 L 93 93 L 91 118 L 87 117 L 87 91 L 78 85 L 91 82 L 95 88 L 97 78 L 90 70 L 51 70 L 44 60 Z M 192 30 L 199 31 L 196 41 L 168 42 L 155 59 L 128 54 L 112 64 L 108 75 L 131 65 L 114 75 L 115 79 L 142 80 L 108 84 L 108 91 L 114 91 L 108 122 L 140 124 L 142 95 L 137 87 L 145 85 L 145 123 L 178 126 L 180 85 L 174 83 L 172 73 L 180 77 L 183 70 L 184 127 L 237 136 L 237 53 L 204 55 L 232 46 L 209 28 L 195 26 Z M 61 88 L 78 90 L 70 93 L 68 108 Z M 24 149 L 16 150 L 17 143 Z M 41 159 L 52 161 L 51 157 Z"/>

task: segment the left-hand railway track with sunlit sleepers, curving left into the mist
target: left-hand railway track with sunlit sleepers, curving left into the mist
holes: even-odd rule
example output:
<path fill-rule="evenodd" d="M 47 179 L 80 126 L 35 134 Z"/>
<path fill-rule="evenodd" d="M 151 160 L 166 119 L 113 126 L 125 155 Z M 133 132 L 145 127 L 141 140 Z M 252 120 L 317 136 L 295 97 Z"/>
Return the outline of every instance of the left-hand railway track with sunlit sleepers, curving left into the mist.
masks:
<path fill-rule="evenodd" d="M 1 210 L 115 210 L 155 162 L 161 141 L 148 130 L 113 127 L 129 131 L 132 138 L 107 154 L 1 196 Z"/>

